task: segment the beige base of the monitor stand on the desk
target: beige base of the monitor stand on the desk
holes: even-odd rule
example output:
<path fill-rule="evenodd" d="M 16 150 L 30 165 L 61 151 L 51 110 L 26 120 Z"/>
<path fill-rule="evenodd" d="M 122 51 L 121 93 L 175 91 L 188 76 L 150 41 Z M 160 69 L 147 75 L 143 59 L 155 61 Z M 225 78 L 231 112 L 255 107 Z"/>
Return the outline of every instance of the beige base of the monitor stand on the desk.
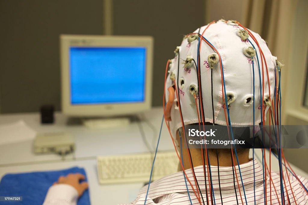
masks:
<path fill-rule="evenodd" d="M 83 125 L 89 129 L 107 129 L 123 127 L 130 123 L 129 117 L 89 118 L 82 119 Z"/>

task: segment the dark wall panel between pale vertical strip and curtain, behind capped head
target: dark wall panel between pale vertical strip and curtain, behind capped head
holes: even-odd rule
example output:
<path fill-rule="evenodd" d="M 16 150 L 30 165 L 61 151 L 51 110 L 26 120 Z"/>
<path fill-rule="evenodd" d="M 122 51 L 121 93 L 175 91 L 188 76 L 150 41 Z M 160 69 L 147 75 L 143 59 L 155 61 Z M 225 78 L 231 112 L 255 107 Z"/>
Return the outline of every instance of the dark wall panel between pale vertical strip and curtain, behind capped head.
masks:
<path fill-rule="evenodd" d="M 162 106 L 164 71 L 184 34 L 205 25 L 204 0 L 114 0 L 115 35 L 151 35 L 155 38 L 153 106 Z"/>

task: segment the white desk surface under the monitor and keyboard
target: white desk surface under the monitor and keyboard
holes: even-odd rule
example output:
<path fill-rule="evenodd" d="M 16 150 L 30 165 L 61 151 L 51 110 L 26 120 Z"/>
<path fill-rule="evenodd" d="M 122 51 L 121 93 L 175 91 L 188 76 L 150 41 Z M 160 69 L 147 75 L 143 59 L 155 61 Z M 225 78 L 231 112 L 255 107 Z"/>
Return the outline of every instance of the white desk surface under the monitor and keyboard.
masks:
<path fill-rule="evenodd" d="M 155 137 L 157 142 L 160 124 L 163 116 L 162 107 L 153 108 L 143 114 L 156 128 L 154 133 L 146 122 L 142 126 L 149 144 Z M 90 130 L 83 126 L 66 125 L 67 117 L 61 113 L 55 114 L 55 123 L 42 125 L 39 113 L 24 113 L 0 115 L 0 124 L 24 120 L 28 126 L 37 132 L 67 131 L 75 139 L 75 157 L 67 155 L 63 160 L 59 155 L 34 155 L 33 141 L 0 145 L 0 178 L 7 173 L 47 171 L 66 169 L 73 166 L 83 167 L 89 181 L 90 200 L 96 204 L 129 203 L 136 197 L 142 183 L 125 183 L 114 185 L 100 185 L 97 178 L 96 156 L 117 155 L 147 152 L 137 123 L 116 129 Z M 155 136 L 154 136 L 155 135 Z M 5 136 L 0 136 L 5 137 Z M 159 150 L 172 150 L 173 145 L 168 130 L 163 124 Z M 261 159 L 261 151 L 256 150 Z M 268 154 L 267 154 L 268 156 Z M 268 160 L 268 157 L 267 157 Z M 308 174 L 294 167 L 297 174 L 308 178 Z M 278 171 L 277 160 L 272 157 L 272 170 Z"/>

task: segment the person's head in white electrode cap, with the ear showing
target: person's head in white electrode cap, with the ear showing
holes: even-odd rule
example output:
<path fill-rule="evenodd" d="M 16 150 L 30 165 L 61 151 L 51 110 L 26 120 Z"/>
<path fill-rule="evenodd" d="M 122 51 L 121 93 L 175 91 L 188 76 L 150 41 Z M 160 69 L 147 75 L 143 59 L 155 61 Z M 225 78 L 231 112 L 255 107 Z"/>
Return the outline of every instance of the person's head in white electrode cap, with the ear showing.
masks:
<path fill-rule="evenodd" d="M 186 35 L 174 53 L 164 96 L 173 138 L 183 124 L 245 126 L 266 120 L 279 62 L 259 34 L 236 21 L 213 22 Z"/>

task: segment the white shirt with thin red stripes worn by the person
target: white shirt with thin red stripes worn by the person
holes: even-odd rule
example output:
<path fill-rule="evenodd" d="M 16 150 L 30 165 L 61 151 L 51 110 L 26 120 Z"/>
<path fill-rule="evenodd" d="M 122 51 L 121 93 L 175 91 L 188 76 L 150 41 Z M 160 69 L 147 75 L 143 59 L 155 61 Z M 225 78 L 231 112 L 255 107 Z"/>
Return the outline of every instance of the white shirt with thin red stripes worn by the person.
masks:
<path fill-rule="evenodd" d="M 206 175 L 207 175 L 207 167 L 206 168 Z M 212 175 L 212 182 L 213 182 L 213 195 L 215 198 L 215 204 L 221 204 L 221 196 L 223 204 L 246 204 L 245 198 L 248 204 L 264 204 L 264 183 L 263 183 L 263 168 L 257 160 L 250 161 L 248 163 L 244 163 L 240 165 L 241 169 L 241 176 L 244 184 L 245 189 L 245 196 L 244 191 L 241 183 L 240 174 L 238 171 L 238 166 L 236 166 L 236 173 L 238 178 L 238 184 L 240 186 L 240 191 L 238 189 L 237 179 L 235 178 L 235 187 L 236 192 L 234 190 L 234 179 L 233 179 L 233 170 L 232 167 L 219 167 L 219 177 L 218 179 L 218 167 L 210 166 L 211 168 L 211 175 Z M 203 166 L 194 167 L 195 175 L 203 196 L 204 204 L 207 204 L 206 200 L 206 189 L 205 189 L 205 175 Z M 195 185 L 193 173 L 191 169 L 186 170 L 186 174 L 188 179 L 192 183 L 196 193 L 197 188 Z M 289 196 L 291 204 L 308 204 L 308 195 L 305 189 L 301 186 L 298 180 L 288 172 L 289 179 L 284 173 L 285 184 L 283 183 L 283 190 L 285 195 L 285 204 L 289 204 L 287 195 Z M 307 179 L 298 176 L 298 178 L 302 181 L 303 185 L 306 187 L 308 184 Z M 208 191 L 208 198 L 209 204 L 211 203 L 210 200 L 210 193 L 209 193 L 209 182 L 208 176 L 206 176 L 207 180 L 207 191 Z M 267 204 L 282 204 L 281 195 L 280 195 L 280 176 L 277 173 L 271 173 L 271 180 L 273 183 L 270 185 L 270 176 L 266 174 L 266 194 L 267 194 Z M 220 187 L 219 187 L 220 184 Z M 291 184 L 291 187 L 290 187 Z M 190 194 L 190 198 L 192 204 L 200 204 L 196 195 L 193 192 L 192 187 L 187 182 L 188 191 Z M 255 188 L 254 188 L 255 187 Z M 130 203 L 131 205 L 143 205 L 144 200 L 146 198 L 148 186 L 144 186 L 138 196 L 137 199 Z M 221 190 L 221 196 L 220 191 Z M 287 193 L 286 193 L 287 190 Z M 294 197 L 292 194 L 294 193 Z M 277 192 L 277 194 L 276 194 Z M 66 193 L 66 194 L 64 194 Z M 241 194 L 240 194 L 241 193 Z M 278 196 L 278 197 L 277 197 Z M 78 198 L 77 191 L 74 191 L 74 188 L 69 185 L 55 185 L 52 186 L 45 198 L 44 205 L 51 205 L 51 204 L 65 204 L 65 205 L 73 205 L 76 204 Z M 243 203 L 242 203 L 243 201 Z M 254 202 L 256 201 L 256 202 Z M 296 203 L 294 202 L 296 201 Z M 201 199 L 201 203 L 203 201 Z M 102 202 L 103 204 L 103 202 Z M 176 205 L 176 204 L 183 204 L 189 205 L 190 200 L 188 197 L 187 188 L 184 181 L 183 172 L 177 172 L 171 175 L 167 175 L 161 179 L 158 179 L 150 184 L 146 205 Z M 214 202 L 213 202 L 214 204 Z"/>

